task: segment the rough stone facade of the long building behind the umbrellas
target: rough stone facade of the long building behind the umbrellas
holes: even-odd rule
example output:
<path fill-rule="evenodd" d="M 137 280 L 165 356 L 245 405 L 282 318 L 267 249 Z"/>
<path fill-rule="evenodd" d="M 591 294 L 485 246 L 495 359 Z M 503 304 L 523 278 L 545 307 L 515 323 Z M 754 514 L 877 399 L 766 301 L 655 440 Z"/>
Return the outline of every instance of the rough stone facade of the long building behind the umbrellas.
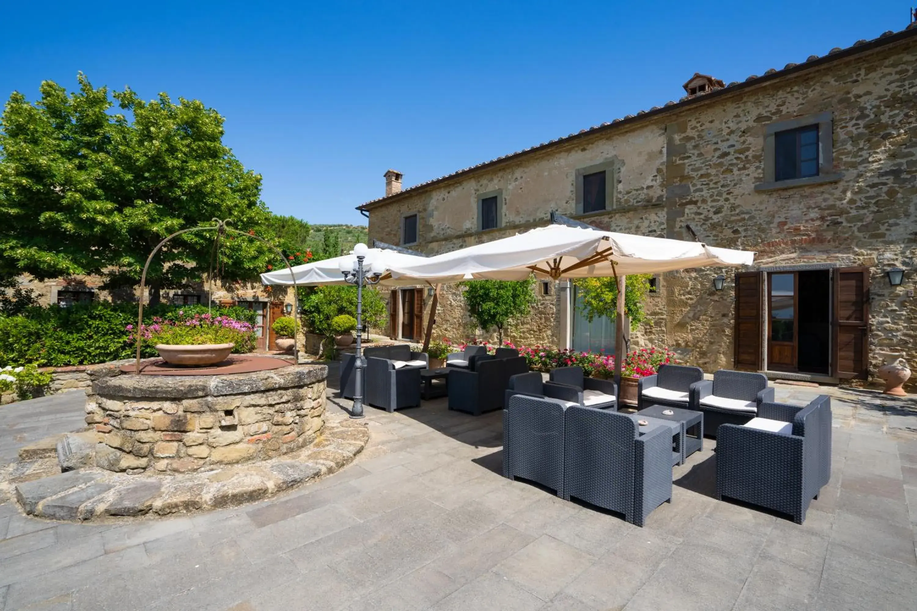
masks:
<path fill-rule="evenodd" d="M 692 239 L 691 225 L 703 242 L 757 251 L 753 270 L 868 267 L 867 363 L 874 375 L 885 353 L 902 353 L 911 364 L 917 359 L 915 94 L 917 28 L 911 27 L 362 207 L 370 212 L 370 238 L 392 244 L 399 243 L 403 215 L 417 213 L 419 243 L 411 248 L 428 255 L 547 224 L 556 210 L 602 229 L 675 239 Z M 832 146 L 823 141 L 821 159 L 830 161 L 830 174 L 768 189 L 768 125 L 825 113 Z M 605 211 L 579 214 L 578 169 L 599 163 L 614 169 L 613 202 Z M 477 231 L 478 194 L 497 190 L 503 193 L 501 226 Z M 889 285 L 890 267 L 906 270 L 902 286 Z M 707 371 L 734 366 L 734 272 L 663 274 L 633 344 L 668 345 Z M 721 273 L 726 289 L 715 291 L 713 278 Z M 511 327 L 513 340 L 569 344 L 569 291 L 562 284 L 555 283 L 551 297 L 539 297 L 524 329 Z M 443 288 L 434 337 L 481 336 L 458 290 Z"/>

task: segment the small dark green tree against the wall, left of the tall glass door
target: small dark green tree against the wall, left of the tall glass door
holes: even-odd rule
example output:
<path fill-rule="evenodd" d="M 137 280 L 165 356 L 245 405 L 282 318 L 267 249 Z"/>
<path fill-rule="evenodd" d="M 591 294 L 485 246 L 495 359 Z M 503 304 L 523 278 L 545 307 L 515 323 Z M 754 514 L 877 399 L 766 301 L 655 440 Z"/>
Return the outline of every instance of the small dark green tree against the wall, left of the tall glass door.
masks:
<path fill-rule="evenodd" d="M 519 281 L 469 280 L 462 282 L 462 296 L 471 316 L 483 330 L 497 328 L 500 345 L 503 330 L 510 321 L 522 318 L 532 309 L 535 278 Z"/>

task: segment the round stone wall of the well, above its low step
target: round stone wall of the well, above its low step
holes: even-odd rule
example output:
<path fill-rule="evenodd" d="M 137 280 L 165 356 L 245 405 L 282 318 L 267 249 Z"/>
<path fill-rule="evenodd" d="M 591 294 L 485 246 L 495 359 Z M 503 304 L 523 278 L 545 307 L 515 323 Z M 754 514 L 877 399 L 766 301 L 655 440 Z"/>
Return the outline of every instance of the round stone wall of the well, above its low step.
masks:
<path fill-rule="evenodd" d="M 212 376 L 99 370 L 86 396 L 86 423 L 104 440 L 95 464 L 177 474 L 299 450 L 325 424 L 326 377 L 317 365 Z"/>

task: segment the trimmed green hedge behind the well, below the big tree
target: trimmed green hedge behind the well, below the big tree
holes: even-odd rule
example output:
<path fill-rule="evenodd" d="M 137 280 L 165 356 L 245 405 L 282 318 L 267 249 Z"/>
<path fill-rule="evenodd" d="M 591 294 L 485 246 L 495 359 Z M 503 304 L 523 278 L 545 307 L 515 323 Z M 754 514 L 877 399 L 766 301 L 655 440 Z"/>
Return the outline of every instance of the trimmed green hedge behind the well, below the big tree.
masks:
<path fill-rule="evenodd" d="M 143 322 L 151 323 L 154 316 L 175 320 L 180 311 L 185 315 L 206 313 L 207 307 L 148 307 L 143 310 Z M 238 306 L 213 308 L 212 313 L 252 324 L 257 317 L 255 312 Z M 136 303 L 95 301 L 69 308 L 52 305 L 28 308 L 17 316 L 3 316 L 0 317 L 0 366 L 93 365 L 130 358 L 136 348 L 127 342 L 128 324 L 137 324 Z M 156 352 L 145 347 L 142 355 L 155 356 Z"/>

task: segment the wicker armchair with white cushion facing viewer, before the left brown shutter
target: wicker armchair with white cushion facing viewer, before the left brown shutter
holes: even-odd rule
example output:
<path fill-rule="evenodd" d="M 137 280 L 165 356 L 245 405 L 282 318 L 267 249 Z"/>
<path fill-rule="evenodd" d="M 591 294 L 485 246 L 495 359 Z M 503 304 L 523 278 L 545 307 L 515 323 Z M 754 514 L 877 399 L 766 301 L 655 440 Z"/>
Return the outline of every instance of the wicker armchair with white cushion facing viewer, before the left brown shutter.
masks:
<path fill-rule="evenodd" d="M 690 409 L 703 412 L 703 433 L 716 437 L 721 424 L 745 424 L 758 406 L 773 402 L 774 388 L 763 374 L 721 369 L 713 380 L 691 384 Z"/>

